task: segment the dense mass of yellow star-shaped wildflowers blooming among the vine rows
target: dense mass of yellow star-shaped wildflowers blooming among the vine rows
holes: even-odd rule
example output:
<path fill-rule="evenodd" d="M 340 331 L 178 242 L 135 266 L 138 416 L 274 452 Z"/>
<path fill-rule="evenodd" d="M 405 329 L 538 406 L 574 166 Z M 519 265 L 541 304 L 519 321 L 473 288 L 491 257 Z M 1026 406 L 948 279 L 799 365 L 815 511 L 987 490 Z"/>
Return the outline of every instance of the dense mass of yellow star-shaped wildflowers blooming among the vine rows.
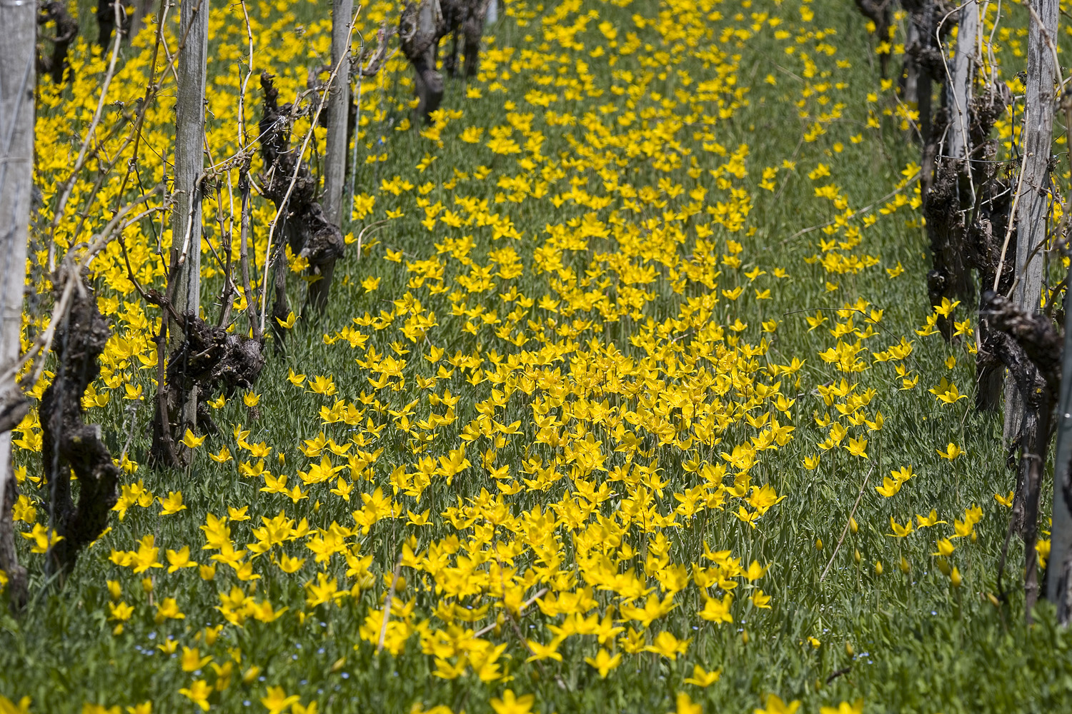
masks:
<path fill-rule="evenodd" d="M 226 229 L 238 219 L 228 186 L 237 183 L 233 159 L 244 148 L 242 136 L 256 136 L 258 118 L 252 89 L 239 101 L 251 69 L 247 47 L 254 47 L 256 72 L 278 75 L 281 96 L 295 96 L 306 66 L 330 56 L 323 9 L 316 21 L 298 25 L 298 14 L 312 14 L 313 4 L 251 3 L 249 39 L 241 7 L 212 7 L 206 150 L 215 188 L 205 204 L 206 285 L 223 273 L 220 256 L 238 253 L 237 231 Z M 372 3 L 356 30 L 371 36 L 397 12 L 394 3 Z M 240 671 L 243 657 L 256 653 L 214 647 L 221 631 L 281 618 L 302 624 L 336 607 L 360 613 L 355 647 L 420 652 L 434 662 L 434 675 L 447 680 L 508 682 L 528 663 L 562 662 L 563 643 L 574 640 L 591 643 L 586 652 L 594 654 L 584 662 L 601 678 L 627 657 L 650 653 L 694 665 L 684 680 L 689 686 L 717 682 L 720 663 L 690 647 L 696 628 L 668 616 L 687 604 L 689 618 L 706 628 L 746 613 L 763 617 L 776 605 L 764 592 L 773 589 L 764 584 L 769 568 L 791 566 L 793 555 L 779 553 L 787 560 L 777 563 L 758 553 L 771 552 L 761 541 L 787 497 L 786 465 L 817 472 L 829 464 L 866 486 L 854 474 L 876 461 L 872 452 L 887 419 L 879 402 L 892 405 L 917 386 L 915 338 L 936 339 L 938 318 L 956 307 L 935 306 L 909 339 L 889 325 L 883 303 L 858 292 L 905 273 L 899 260 L 872 255 L 868 237 L 880 221 L 893 225 L 898 211 L 912 213 L 907 223 L 918 227 L 919 167 L 909 163 L 903 179 L 883 188 L 893 193 L 881 206 L 854 209 L 850 194 L 859 192 L 833 182 L 831 164 L 846 149 L 833 135 L 844 132 L 851 111 L 839 95 L 848 87 L 838 71 L 851 62 L 833 44 L 838 32 L 818 25 L 806 0 L 792 9 L 761 0 L 644 6 L 564 0 L 546 9 L 511 0 L 505 14 L 509 30 L 486 37 L 464 98 L 448 97 L 427 126 L 411 126 L 412 81 L 401 57 L 362 80 L 355 140 L 364 188 L 346 240 L 356 243 L 362 226 L 387 227 L 378 242 L 369 237 L 359 244 L 362 262 L 343 269 L 336 300 L 354 306 L 332 308 L 342 324 L 321 330 L 323 345 L 313 346 L 324 363 L 348 366 L 306 375 L 293 367 L 326 371 L 314 367 L 318 358 L 287 363 L 293 367 L 272 388 L 272 399 L 251 392 L 242 406 L 223 395 L 209 401 L 235 420 L 229 438 L 221 429 L 206 442 L 188 430 L 182 440 L 200 468 L 233 475 L 243 496 L 236 488 L 227 496 L 233 502 L 195 507 L 184 502 L 177 477 L 163 482 L 167 495 L 158 496 L 146 486 L 148 469 L 123 453 L 126 481 L 115 511 L 124 527 L 100 542 L 110 548 L 108 619 L 116 636 L 143 609 L 166 626 L 185 618 L 191 589 L 218 593 L 218 624 L 175 627 L 168 632 L 176 637 L 160 645 L 178 653 L 181 644 L 178 662 L 188 674 L 179 692 L 202 710 L 233 680 L 249 685 L 260 673 L 255 665 Z M 59 255 L 78 249 L 124 198 L 122 182 L 107 172 L 134 158 L 122 126 L 150 75 L 165 87 L 173 81 L 163 54 L 150 66 L 154 33 L 150 24 L 117 70 L 92 137 L 99 149 L 89 176 L 73 183 L 62 216 L 49 207 L 85 138 L 107 59 L 79 41 L 70 87 L 41 85 L 36 184 L 45 208 L 35 219 L 55 223 Z M 175 42 L 169 29 L 164 35 Z M 778 67 L 785 78 L 760 79 L 775 88 L 795 82 L 786 98 L 801 128 L 790 157 L 758 167 L 734 125 L 744 108 L 756 108 L 748 82 L 759 63 L 742 64 L 746 43 L 756 42 L 783 52 L 779 61 L 791 67 Z M 1011 47 L 1019 51 L 1016 42 Z M 891 50 L 904 47 L 880 47 Z M 883 100 L 894 92 L 887 81 L 881 90 Z M 868 100 L 867 132 L 879 128 L 883 113 L 907 128 L 911 110 L 891 102 L 882 109 L 879 94 Z M 166 179 L 173 102 L 164 91 L 146 112 L 135 188 Z M 503 123 L 488 125 L 486 116 Z M 1014 128 L 998 126 L 1002 137 Z M 309 131 L 312 143 L 324 146 L 323 130 L 299 118 L 295 135 Z M 761 131 L 748 126 L 749 134 Z M 864 135 L 847 139 L 858 145 Z M 807 170 L 798 168 L 805 145 L 821 147 Z M 814 212 L 827 222 L 783 240 L 768 232 L 756 206 L 777 202 L 790 182 L 802 181 L 810 182 Z M 272 216 L 273 208 L 255 198 L 255 268 L 265 265 L 260 227 Z M 405 240 L 407 232 L 419 240 Z M 799 268 L 814 272 L 791 275 L 779 241 L 789 250 L 787 244 L 801 245 L 810 233 L 818 236 L 815 249 L 805 248 L 810 255 Z M 166 222 L 147 219 L 123 240 L 133 277 L 161 288 L 162 255 L 172 241 Z M 32 253 L 39 290 L 48 288 L 55 258 L 48 248 Z M 303 259 L 289 258 L 291 270 L 300 272 Z M 159 310 L 138 300 L 119 242 L 93 260 L 92 275 L 114 334 L 101 378 L 83 399 L 87 421 L 140 414 L 144 423 L 155 392 Z M 785 298 L 816 278 L 821 290 L 807 294 L 820 306 Z M 239 288 L 235 310 L 254 299 Z M 28 310 L 24 321 L 28 344 L 43 318 Z M 294 314 L 280 324 L 298 325 L 295 339 L 311 330 Z M 972 334 L 970 320 L 956 329 Z M 955 364 L 950 356 L 947 366 Z M 50 377 L 46 371 L 34 396 Z M 966 396 L 947 377 L 929 392 L 940 408 Z M 804 404 L 816 408 L 801 420 Z M 296 431 L 292 422 L 272 434 L 250 423 L 257 411 L 269 424 L 276 412 L 299 414 L 304 427 Z M 15 444 L 24 452 L 20 487 L 33 493 L 43 488 L 33 459 L 41 450 L 35 411 L 19 425 Z M 924 444 L 921 458 L 933 459 L 935 446 Z M 777 457 L 781 450 L 791 455 Z M 963 454 L 952 442 L 937 451 L 950 462 Z M 895 499 L 918 475 L 912 466 L 890 474 L 873 485 L 883 499 Z M 861 487 L 874 498 L 869 490 Z M 30 552 L 43 553 L 53 536 L 34 503 L 20 496 L 15 520 Z M 146 527 L 165 517 L 196 520 L 199 540 L 178 542 Z M 950 565 L 951 538 L 973 541 L 982 518 L 979 506 L 966 506 L 954 533 L 937 540 L 938 567 L 954 586 L 962 576 Z M 913 529 L 911 512 L 904 526 L 891 515 L 890 535 L 946 523 L 935 511 L 917 519 Z M 125 526 L 132 521 L 137 533 Z M 855 533 L 855 519 L 849 521 Z M 843 523 L 831 526 L 828 537 L 836 538 Z M 821 538 L 816 546 L 822 549 Z M 859 550 L 855 557 L 859 563 Z M 900 563 L 907 573 L 903 556 Z M 302 597 L 269 587 L 277 581 L 299 582 Z M 518 631 L 513 641 L 510 629 L 522 618 L 535 626 Z M 747 641 L 747 632 L 742 636 Z M 266 686 L 260 701 L 271 712 L 316 711 L 315 700 L 303 704 Z M 491 705 L 524 714 L 534 699 L 505 689 Z M 799 705 L 772 695 L 757 711 Z M 862 707 L 842 702 L 822 712 Z M 700 711 L 686 693 L 676 708 Z M 437 710 L 445 708 L 428 711 Z"/>

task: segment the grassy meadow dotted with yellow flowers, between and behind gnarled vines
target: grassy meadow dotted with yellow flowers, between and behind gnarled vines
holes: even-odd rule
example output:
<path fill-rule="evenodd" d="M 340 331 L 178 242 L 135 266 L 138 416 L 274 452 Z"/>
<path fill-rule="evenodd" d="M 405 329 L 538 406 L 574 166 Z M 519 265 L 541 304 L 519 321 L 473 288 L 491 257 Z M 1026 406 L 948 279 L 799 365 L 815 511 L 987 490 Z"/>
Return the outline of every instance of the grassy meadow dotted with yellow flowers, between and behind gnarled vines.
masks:
<path fill-rule="evenodd" d="M 107 69 L 87 13 L 72 81 L 39 88 L 34 226 Z M 373 2 L 357 29 L 372 42 L 397 13 Z M 1027 13 L 988 13 L 1016 94 Z M 920 148 L 878 55 L 899 66 L 903 19 L 884 42 L 833 0 L 509 0 L 428 126 L 392 56 L 361 86 L 327 313 L 269 336 L 252 391 L 213 396 L 220 432 L 187 435 L 184 470 L 149 465 L 160 310 L 113 243 L 92 263 L 113 336 L 83 404 L 122 489 L 46 578 L 35 411 L 19 425 L 31 601 L 0 614 L 0 712 L 1067 711 L 1072 640 L 1046 603 L 1024 624 L 1015 537 L 998 580 L 1014 474 L 1000 413 L 971 398 L 972 306 L 927 300 Z M 109 88 L 109 159 L 150 72 L 170 81 L 153 33 Z M 250 46 L 291 101 L 330 62 L 330 15 L 213 3 L 210 33 L 214 317 L 223 157 L 260 111 L 255 81 L 238 102 Z M 168 170 L 173 102 L 146 113 L 131 197 Z M 1006 159 L 1017 122 L 996 132 Z M 98 178 L 56 218 L 61 254 L 121 198 Z M 273 212 L 254 193 L 255 278 Z M 166 221 L 124 240 L 162 288 Z M 48 259 L 31 244 L 27 339 Z"/>

